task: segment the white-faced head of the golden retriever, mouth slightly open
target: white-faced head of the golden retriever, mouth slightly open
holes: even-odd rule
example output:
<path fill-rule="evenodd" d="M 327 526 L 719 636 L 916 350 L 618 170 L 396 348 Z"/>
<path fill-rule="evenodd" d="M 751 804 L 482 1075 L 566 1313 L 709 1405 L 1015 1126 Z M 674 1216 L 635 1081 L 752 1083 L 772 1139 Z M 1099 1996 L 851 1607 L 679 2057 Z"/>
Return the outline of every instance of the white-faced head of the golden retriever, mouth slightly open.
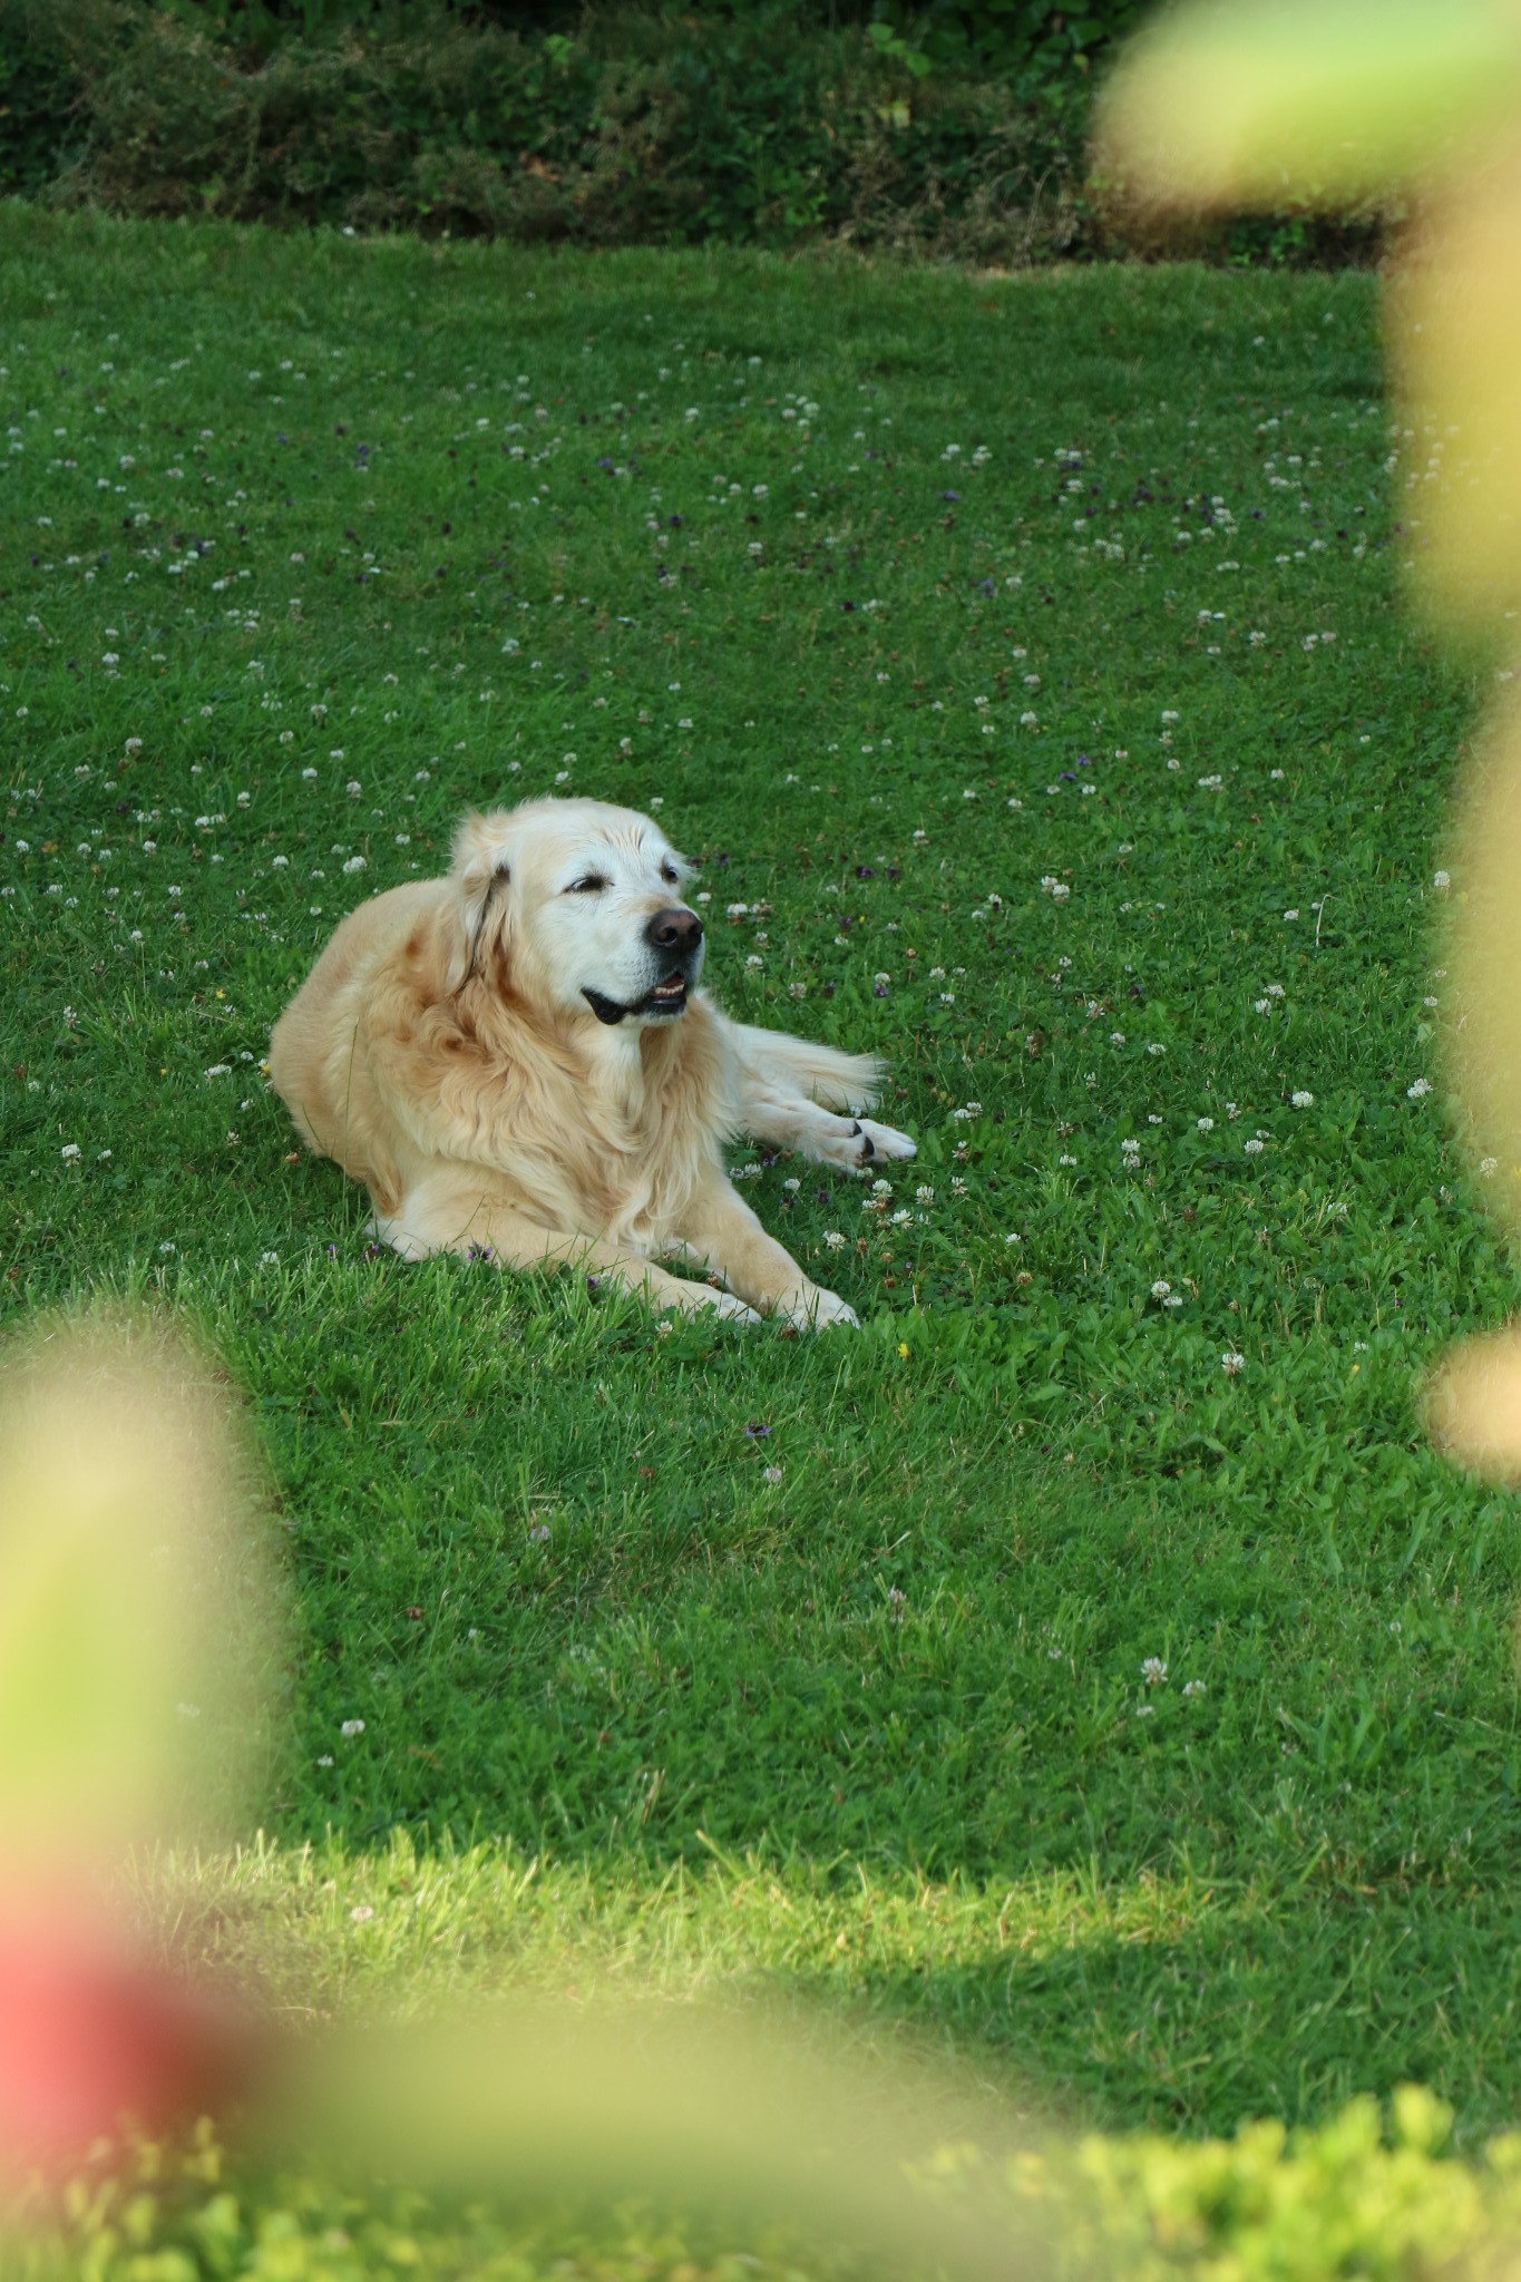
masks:
<path fill-rule="evenodd" d="M 670 1022 L 702 972 L 686 865 L 650 817 L 607 801 L 524 801 L 454 835 L 447 988 L 502 972 L 534 1006 Z"/>

